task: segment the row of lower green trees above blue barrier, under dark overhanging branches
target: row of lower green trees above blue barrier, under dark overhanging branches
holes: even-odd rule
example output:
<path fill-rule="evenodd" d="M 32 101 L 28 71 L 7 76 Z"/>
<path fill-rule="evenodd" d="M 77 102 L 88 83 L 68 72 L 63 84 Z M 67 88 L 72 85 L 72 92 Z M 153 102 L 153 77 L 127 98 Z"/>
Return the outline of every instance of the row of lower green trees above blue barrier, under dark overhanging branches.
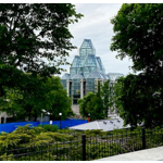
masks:
<path fill-rule="evenodd" d="M 47 80 L 45 80 L 43 77 L 38 75 L 37 80 L 38 85 L 30 93 L 7 88 L 4 100 L 9 99 L 9 102 L 3 101 L 0 112 L 13 115 L 15 121 L 25 117 L 29 120 L 35 117 L 35 121 L 37 121 L 37 117 L 42 113 L 42 109 L 51 113 L 51 120 L 60 120 L 60 112 L 62 112 L 62 120 L 71 116 L 73 114 L 72 100 L 67 97 L 60 78 L 47 77 Z"/>

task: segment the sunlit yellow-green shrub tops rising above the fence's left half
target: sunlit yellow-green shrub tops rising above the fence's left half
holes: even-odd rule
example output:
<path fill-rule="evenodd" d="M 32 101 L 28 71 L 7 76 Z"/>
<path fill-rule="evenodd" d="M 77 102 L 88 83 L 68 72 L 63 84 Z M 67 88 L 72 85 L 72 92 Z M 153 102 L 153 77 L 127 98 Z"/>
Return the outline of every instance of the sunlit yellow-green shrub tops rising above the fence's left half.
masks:
<path fill-rule="evenodd" d="M 49 143 L 54 141 L 66 141 L 72 140 L 73 136 L 52 133 L 49 130 L 57 129 L 55 126 L 51 127 L 29 127 L 29 125 L 18 126 L 13 133 L 5 134 L 1 133 L 0 136 L 0 150 L 21 148 L 36 143 Z"/>

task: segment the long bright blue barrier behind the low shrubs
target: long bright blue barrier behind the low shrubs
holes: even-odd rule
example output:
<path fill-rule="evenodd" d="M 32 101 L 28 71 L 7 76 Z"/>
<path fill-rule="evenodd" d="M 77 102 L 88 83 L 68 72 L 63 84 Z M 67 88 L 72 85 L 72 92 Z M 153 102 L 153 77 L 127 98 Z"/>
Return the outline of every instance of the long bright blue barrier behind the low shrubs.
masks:
<path fill-rule="evenodd" d="M 88 121 L 86 120 L 66 120 L 66 121 L 53 121 L 52 125 L 55 125 L 60 128 L 61 125 L 61 129 L 62 128 L 67 128 L 67 127 L 72 127 L 72 126 L 76 126 L 76 125 L 80 125 L 80 124 L 85 124 Z M 39 126 L 39 125 L 47 125 L 50 124 L 50 122 L 20 122 L 20 123 L 8 123 L 8 124 L 0 124 L 0 133 L 1 131 L 5 131 L 5 133 L 11 133 L 13 130 L 15 130 L 18 126 L 25 126 L 27 124 L 30 124 L 30 126 Z"/>

